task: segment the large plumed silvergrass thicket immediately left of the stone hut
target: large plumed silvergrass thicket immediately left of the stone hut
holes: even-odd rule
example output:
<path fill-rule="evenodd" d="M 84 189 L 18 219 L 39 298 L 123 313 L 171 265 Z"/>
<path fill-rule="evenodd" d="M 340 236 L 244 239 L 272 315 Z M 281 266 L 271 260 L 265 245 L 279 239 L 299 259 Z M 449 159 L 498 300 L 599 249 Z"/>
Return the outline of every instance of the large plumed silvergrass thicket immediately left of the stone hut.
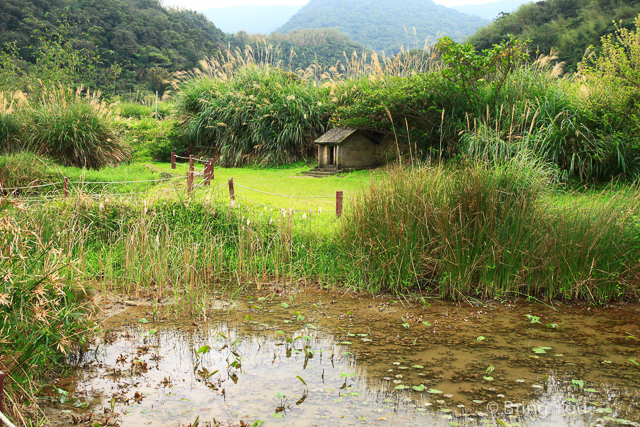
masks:
<path fill-rule="evenodd" d="M 224 166 L 280 165 L 315 152 L 327 130 L 329 89 L 268 66 L 248 66 L 222 79 L 203 74 L 187 80 L 178 114 L 197 148 L 220 156 Z"/>

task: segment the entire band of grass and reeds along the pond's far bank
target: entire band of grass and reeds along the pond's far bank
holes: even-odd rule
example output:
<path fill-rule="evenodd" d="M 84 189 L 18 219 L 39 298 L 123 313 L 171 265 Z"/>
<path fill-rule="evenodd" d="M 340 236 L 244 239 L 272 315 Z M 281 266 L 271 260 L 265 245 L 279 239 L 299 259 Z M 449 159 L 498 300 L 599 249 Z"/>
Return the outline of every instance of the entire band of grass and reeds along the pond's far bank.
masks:
<path fill-rule="evenodd" d="M 154 289 L 176 301 L 201 300 L 220 280 L 298 279 L 449 298 L 637 298 L 640 191 L 569 193 L 559 204 L 556 179 L 521 154 L 389 170 L 340 221 L 231 209 L 215 198 L 108 195 L 32 206 L 14 221 L 46 230 L 43 238 L 105 290 Z"/>

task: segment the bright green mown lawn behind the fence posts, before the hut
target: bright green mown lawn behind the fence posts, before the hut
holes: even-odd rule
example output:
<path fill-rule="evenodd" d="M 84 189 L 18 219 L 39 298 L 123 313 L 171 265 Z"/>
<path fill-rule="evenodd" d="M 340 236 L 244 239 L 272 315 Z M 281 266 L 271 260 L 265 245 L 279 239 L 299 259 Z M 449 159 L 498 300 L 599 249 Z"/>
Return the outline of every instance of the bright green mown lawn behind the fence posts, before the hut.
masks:
<path fill-rule="evenodd" d="M 64 177 L 69 179 L 69 188 L 72 193 L 82 191 L 105 195 L 118 194 L 123 197 L 131 195 L 140 198 L 186 195 L 188 167 L 184 163 L 179 163 L 175 170 L 171 169 L 170 163 L 160 162 L 131 163 L 107 167 L 100 171 L 49 164 L 42 164 L 40 167 L 46 171 L 46 179 L 20 180 L 22 184 L 25 182 L 33 182 L 35 185 L 56 183 L 52 187 L 39 188 L 40 195 L 54 197 L 60 194 Z M 346 206 L 348 198 L 368 185 L 371 177 L 375 176 L 375 171 L 360 171 L 325 178 L 311 178 L 302 174 L 310 169 L 312 167 L 306 164 L 282 168 L 216 168 L 215 177 L 209 187 L 202 186 L 202 177 L 196 176 L 193 198 L 229 200 L 227 182 L 233 178 L 239 205 L 251 208 L 264 208 L 266 205 L 268 208 L 294 208 L 296 211 L 333 211 L 336 204 L 336 191 L 343 191 Z M 42 175 L 41 173 L 40 176 Z M 161 179 L 170 180 L 139 182 Z M 99 184 L 91 184 L 92 182 Z"/>

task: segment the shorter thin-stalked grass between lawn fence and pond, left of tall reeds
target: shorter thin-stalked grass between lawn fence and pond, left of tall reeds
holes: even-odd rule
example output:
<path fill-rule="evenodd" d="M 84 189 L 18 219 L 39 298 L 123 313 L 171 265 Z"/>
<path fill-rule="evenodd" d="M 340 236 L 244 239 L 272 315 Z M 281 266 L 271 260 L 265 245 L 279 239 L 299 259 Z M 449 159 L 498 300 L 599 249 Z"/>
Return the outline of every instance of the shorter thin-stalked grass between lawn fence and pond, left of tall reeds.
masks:
<path fill-rule="evenodd" d="M 43 239 L 73 256 L 85 279 L 105 291 L 154 290 L 191 301 L 216 281 L 260 286 L 336 277 L 341 249 L 327 234 L 332 219 L 304 215 L 231 209 L 215 199 L 141 203 L 105 195 L 34 205 L 14 220 L 46 230 Z"/>

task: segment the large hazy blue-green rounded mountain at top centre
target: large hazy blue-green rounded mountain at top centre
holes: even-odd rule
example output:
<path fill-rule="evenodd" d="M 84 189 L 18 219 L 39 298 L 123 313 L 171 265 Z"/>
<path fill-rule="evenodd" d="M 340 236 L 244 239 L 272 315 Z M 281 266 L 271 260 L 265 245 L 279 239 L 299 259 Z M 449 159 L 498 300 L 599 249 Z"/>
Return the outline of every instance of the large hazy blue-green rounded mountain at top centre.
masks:
<path fill-rule="evenodd" d="M 448 35 L 462 40 L 488 22 L 431 0 L 311 0 L 277 32 L 336 28 L 353 40 L 393 55 Z M 414 33 L 415 29 L 415 33 Z"/>

